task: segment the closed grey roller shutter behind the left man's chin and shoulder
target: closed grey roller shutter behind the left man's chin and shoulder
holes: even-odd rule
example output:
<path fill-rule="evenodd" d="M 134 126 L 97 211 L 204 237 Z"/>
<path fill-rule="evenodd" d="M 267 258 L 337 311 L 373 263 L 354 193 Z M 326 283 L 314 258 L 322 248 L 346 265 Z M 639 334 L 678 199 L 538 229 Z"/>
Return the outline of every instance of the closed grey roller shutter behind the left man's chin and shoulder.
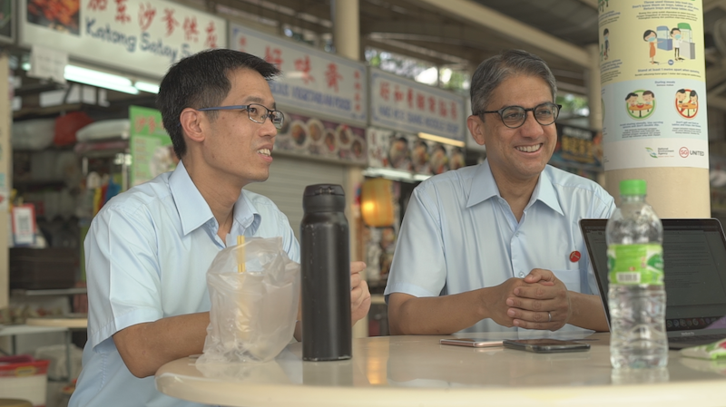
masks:
<path fill-rule="evenodd" d="M 311 184 L 345 185 L 345 169 L 339 164 L 278 155 L 270 167 L 270 178 L 250 184 L 245 189 L 272 199 L 287 215 L 289 225 L 299 239 L 303 190 Z"/>

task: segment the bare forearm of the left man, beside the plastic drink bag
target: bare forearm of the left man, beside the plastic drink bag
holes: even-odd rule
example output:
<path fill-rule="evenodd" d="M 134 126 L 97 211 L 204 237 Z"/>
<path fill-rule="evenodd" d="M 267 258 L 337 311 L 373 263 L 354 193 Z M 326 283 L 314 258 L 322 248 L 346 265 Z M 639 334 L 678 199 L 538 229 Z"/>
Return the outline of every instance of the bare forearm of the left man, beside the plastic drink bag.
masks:
<path fill-rule="evenodd" d="M 209 313 L 177 315 L 132 325 L 113 335 L 123 363 L 136 377 L 151 376 L 164 363 L 201 354 Z"/>

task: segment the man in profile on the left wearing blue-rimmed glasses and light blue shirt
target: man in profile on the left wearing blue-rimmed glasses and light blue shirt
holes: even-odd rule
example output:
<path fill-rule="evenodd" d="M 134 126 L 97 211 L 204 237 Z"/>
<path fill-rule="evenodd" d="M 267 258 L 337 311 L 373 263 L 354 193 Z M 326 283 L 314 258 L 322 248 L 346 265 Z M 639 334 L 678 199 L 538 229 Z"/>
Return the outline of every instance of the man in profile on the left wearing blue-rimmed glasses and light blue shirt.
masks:
<path fill-rule="evenodd" d="M 164 76 L 157 105 L 181 161 L 93 218 L 84 243 L 88 343 L 69 405 L 201 405 L 158 392 L 153 374 L 201 354 L 214 257 L 238 236 L 281 237 L 299 262 L 288 218 L 270 199 L 243 189 L 270 175 L 285 118 L 268 81 L 279 73 L 254 55 L 216 49 L 182 59 Z M 359 276 L 365 266 L 350 265 L 354 323 L 370 307 Z"/>

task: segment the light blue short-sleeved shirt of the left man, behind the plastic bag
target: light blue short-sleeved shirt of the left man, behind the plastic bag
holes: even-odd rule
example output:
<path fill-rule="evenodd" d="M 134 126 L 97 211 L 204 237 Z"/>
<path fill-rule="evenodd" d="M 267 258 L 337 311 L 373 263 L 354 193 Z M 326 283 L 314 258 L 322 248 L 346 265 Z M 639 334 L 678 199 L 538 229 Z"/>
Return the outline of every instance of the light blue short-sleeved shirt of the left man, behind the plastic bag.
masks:
<path fill-rule="evenodd" d="M 230 236 L 282 237 L 290 259 L 299 244 L 270 199 L 242 191 Z M 88 342 L 70 406 L 197 406 L 157 392 L 123 363 L 112 335 L 131 325 L 210 310 L 206 273 L 226 247 L 219 224 L 182 162 L 129 189 L 93 218 L 84 242 Z"/>

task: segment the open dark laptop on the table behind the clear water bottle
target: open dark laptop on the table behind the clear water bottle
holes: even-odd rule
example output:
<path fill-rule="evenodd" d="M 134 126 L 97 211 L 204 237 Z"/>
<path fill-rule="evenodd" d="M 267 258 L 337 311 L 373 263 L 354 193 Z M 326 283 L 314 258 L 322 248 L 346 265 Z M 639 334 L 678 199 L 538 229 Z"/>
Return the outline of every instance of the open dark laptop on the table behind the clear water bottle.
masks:
<path fill-rule="evenodd" d="M 606 224 L 607 219 L 580 220 L 609 325 Z M 721 222 L 662 219 L 662 224 L 668 346 L 682 349 L 726 338 L 726 237 Z"/>

